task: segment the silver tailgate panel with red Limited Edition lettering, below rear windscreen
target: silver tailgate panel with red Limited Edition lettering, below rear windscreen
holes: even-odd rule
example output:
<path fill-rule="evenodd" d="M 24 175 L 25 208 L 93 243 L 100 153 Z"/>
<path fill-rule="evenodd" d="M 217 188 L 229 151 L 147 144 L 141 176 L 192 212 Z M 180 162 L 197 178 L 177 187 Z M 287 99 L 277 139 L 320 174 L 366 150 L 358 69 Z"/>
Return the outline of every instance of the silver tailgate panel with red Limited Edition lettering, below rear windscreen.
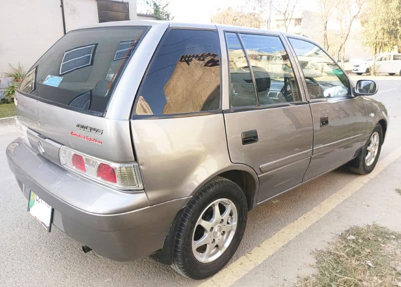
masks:
<path fill-rule="evenodd" d="M 30 129 L 54 142 L 77 151 L 114 162 L 132 162 L 134 154 L 131 144 L 129 121 L 99 117 L 65 109 L 16 92 L 18 101 L 17 118 Z M 86 124 L 103 129 L 102 134 L 95 134 L 77 128 L 77 124 Z M 101 141 L 94 144 L 70 133 L 90 136 Z M 46 156 L 46 155 L 45 155 Z M 58 156 L 53 160 L 58 162 Z"/>

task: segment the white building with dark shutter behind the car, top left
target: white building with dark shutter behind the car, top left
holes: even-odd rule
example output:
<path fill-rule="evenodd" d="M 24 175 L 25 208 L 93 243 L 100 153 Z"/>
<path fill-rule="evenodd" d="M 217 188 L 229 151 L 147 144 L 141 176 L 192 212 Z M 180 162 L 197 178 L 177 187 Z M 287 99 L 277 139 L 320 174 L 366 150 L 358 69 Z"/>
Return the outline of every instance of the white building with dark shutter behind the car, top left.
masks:
<path fill-rule="evenodd" d="M 0 76 L 9 64 L 27 71 L 59 38 L 77 27 L 154 20 L 146 0 L 2 0 Z M 64 18 L 64 21 L 63 21 Z"/>

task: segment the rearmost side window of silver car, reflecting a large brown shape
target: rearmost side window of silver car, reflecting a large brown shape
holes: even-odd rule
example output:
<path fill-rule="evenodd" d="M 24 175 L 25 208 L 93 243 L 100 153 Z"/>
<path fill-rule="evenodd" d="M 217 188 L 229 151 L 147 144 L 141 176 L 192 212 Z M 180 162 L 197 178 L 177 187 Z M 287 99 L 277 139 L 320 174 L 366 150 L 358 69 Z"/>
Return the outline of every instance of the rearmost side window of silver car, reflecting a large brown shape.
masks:
<path fill-rule="evenodd" d="M 167 31 L 139 88 L 135 114 L 219 109 L 219 51 L 216 31 Z"/>

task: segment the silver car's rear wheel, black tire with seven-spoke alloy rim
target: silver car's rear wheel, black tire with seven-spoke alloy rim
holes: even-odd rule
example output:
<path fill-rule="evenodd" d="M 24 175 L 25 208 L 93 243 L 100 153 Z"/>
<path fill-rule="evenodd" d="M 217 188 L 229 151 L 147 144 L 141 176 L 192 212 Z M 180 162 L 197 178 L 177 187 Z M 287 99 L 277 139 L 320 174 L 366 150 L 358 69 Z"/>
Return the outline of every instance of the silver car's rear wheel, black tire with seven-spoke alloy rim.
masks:
<path fill-rule="evenodd" d="M 216 177 L 188 202 L 174 239 L 172 267 L 192 279 L 222 269 L 244 235 L 248 206 L 234 182 Z"/>

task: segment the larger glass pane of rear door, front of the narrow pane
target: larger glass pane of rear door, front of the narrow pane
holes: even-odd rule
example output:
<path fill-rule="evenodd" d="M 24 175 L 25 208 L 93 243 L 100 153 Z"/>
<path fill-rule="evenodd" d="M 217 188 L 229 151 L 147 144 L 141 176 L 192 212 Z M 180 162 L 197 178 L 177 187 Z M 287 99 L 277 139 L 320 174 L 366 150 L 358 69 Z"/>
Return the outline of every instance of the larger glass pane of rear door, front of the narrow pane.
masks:
<path fill-rule="evenodd" d="M 297 82 L 280 38 L 240 34 L 249 57 L 259 104 L 300 101 Z"/>

